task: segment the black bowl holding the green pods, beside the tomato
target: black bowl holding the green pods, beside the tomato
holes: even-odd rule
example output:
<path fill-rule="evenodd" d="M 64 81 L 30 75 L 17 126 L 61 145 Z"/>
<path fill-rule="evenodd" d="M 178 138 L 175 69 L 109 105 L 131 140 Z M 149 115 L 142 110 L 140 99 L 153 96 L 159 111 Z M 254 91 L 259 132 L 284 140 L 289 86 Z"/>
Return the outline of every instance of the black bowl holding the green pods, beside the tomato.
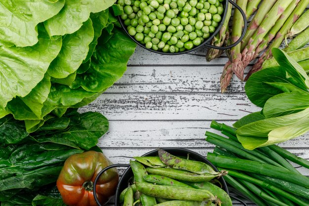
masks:
<path fill-rule="evenodd" d="M 215 171 L 219 171 L 206 158 L 204 158 L 203 156 L 201 156 L 201 155 L 199 155 L 196 152 L 193 152 L 191 150 L 182 149 L 182 148 L 162 148 L 162 150 L 165 150 L 166 152 L 171 153 L 172 155 L 175 155 L 175 156 L 187 157 L 187 155 L 189 154 L 189 157 L 190 157 L 191 160 L 207 163 L 212 168 L 214 168 Z M 153 150 L 149 153 L 146 153 L 143 156 L 157 156 L 157 155 L 158 155 L 158 151 Z M 122 190 L 124 190 L 125 188 L 128 187 L 128 183 L 130 182 L 132 177 L 133 177 L 132 169 L 131 169 L 131 167 L 128 167 L 125 170 L 125 172 L 123 173 L 122 177 L 120 178 L 120 180 L 118 182 L 118 186 L 117 186 L 117 189 L 116 189 L 116 195 L 115 195 L 115 206 L 121 206 L 121 203 L 119 203 L 120 193 L 122 192 Z M 224 181 L 223 177 L 218 178 L 218 180 L 220 181 L 220 183 L 222 185 L 222 189 L 224 191 L 226 191 L 226 193 L 229 194 L 228 186 L 227 186 L 226 182 Z"/>

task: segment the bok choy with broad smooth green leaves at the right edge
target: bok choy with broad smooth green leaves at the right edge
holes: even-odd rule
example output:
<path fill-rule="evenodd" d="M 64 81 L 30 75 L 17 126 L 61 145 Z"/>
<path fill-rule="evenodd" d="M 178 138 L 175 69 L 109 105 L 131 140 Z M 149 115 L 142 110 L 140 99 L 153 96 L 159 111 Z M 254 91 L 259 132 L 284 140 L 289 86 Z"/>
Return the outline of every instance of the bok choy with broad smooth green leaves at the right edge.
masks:
<path fill-rule="evenodd" d="M 309 77 L 285 52 L 273 48 L 272 53 L 279 66 L 253 74 L 245 86 L 248 98 L 263 110 L 234 124 L 238 140 L 250 150 L 309 131 Z"/>

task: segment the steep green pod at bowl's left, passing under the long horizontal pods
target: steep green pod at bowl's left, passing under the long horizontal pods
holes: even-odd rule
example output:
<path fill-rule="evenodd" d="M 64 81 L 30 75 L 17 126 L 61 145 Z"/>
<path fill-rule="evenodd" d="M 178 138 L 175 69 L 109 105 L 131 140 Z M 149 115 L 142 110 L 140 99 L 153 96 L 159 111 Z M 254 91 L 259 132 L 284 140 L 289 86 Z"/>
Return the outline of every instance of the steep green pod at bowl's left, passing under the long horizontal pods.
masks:
<path fill-rule="evenodd" d="M 134 174 L 134 179 L 136 182 L 145 182 L 144 176 L 148 175 L 144 165 L 137 161 L 130 161 L 131 169 Z M 142 192 L 141 192 L 142 193 Z M 156 205 L 156 201 L 154 197 L 150 197 L 146 194 L 141 194 L 141 202 L 143 206 L 154 206 Z"/>

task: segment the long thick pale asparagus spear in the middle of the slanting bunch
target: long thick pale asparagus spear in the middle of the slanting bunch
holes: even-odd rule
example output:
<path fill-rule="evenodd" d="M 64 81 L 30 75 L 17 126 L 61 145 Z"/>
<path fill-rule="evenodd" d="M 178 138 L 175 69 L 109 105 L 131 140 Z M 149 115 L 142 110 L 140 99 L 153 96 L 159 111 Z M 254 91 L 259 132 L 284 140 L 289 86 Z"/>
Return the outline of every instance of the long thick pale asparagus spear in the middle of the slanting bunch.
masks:
<path fill-rule="evenodd" d="M 255 48 L 263 40 L 266 34 L 270 31 L 271 27 L 274 26 L 275 22 L 281 16 L 283 11 L 289 6 L 292 0 L 278 0 L 274 6 L 270 9 L 267 17 L 263 20 L 259 29 L 250 38 L 248 45 L 242 51 L 242 63 L 243 70 L 251 62 L 254 57 Z M 243 74 L 242 70 L 242 74 Z"/>

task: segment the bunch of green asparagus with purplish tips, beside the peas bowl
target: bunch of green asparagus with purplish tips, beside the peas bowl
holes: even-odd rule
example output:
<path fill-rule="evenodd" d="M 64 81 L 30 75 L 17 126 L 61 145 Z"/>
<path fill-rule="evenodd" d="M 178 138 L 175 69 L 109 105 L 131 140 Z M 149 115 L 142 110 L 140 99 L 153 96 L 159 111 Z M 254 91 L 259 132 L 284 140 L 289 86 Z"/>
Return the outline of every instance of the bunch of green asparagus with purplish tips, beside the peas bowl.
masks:
<path fill-rule="evenodd" d="M 299 31 L 306 29 L 309 23 L 309 11 L 302 15 L 309 4 L 309 0 L 236 0 L 236 3 L 246 12 L 247 19 L 249 19 L 255 11 L 256 12 L 248 25 L 243 40 L 241 43 L 232 47 L 231 55 L 228 55 L 230 56 L 230 60 L 226 63 L 220 78 L 222 92 L 226 91 L 231 82 L 233 73 L 240 80 L 247 80 L 252 73 L 262 68 L 265 60 L 271 57 L 271 48 L 278 47 L 286 36 L 291 37 Z M 228 18 L 225 19 L 220 33 L 213 40 L 213 45 L 220 46 L 228 42 L 226 38 L 227 33 L 229 33 L 230 9 L 228 9 L 227 12 Z M 299 19 L 301 15 L 304 20 L 300 23 L 301 25 L 296 24 L 296 20 Z M 231 34 L 229 35 L 231 43 L 240 38 L 243 27 L 243 20 L 238 10 L 234 10 L 232 19 L 232 32 L 230 32 Z M 301 18 L 299 20 L 301 20 Z M 244 78 L 246 66 L 248 66 L 253 59 L 261 55 L 263 51 L 264 53 L 262 56 Z M 209 49 L 206 54 L 206 60 L 210 61 L 220 55 L 220 51 Z"/>

